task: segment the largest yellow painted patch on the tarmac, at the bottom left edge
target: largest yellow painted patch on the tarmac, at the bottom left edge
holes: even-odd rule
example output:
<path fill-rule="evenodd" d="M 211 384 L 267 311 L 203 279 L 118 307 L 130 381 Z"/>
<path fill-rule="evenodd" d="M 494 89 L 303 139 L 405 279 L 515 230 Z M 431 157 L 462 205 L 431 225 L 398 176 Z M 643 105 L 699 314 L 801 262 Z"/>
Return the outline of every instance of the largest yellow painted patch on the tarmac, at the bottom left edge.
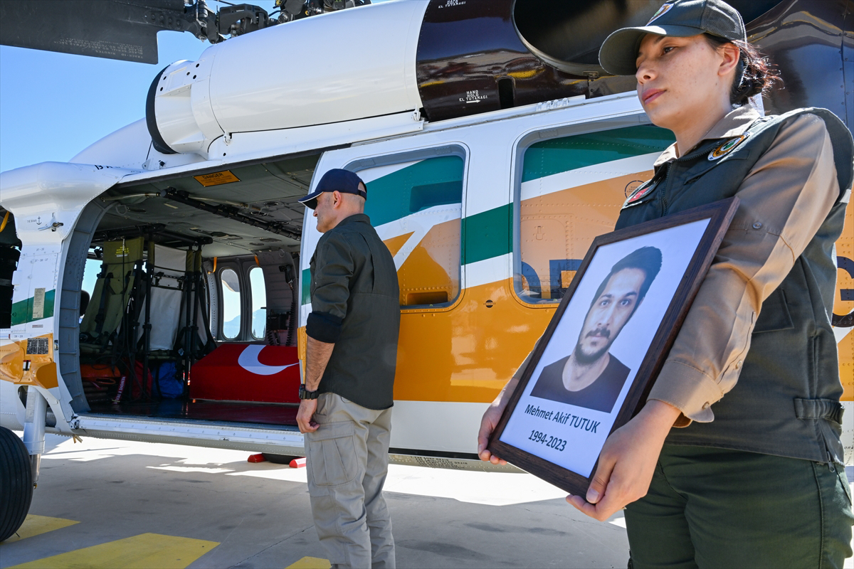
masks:
<path fill-rule="evenodd" d="M 44 567 L 45 569 L 184 569 L 193 561 L 219 545 L 189 537 L 163 536 L 143 533 L 114 542 L 75 549 L 68 553 L 45 557 L 17 567 Z"/>

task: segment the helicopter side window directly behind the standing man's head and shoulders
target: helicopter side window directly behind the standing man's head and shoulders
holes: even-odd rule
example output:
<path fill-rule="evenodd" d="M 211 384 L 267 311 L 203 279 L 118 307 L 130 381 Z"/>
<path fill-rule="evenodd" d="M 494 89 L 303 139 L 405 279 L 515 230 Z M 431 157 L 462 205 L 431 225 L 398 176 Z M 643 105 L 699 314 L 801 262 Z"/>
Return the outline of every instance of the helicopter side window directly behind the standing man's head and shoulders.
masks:
<path fill-rule="evenodd" d="M 465 158 L 461 148 L 449 151 L 354 168 L 370 196 L 365 212 L 395 257 L 401 306 L 448 305 L 459 296 Z"/>

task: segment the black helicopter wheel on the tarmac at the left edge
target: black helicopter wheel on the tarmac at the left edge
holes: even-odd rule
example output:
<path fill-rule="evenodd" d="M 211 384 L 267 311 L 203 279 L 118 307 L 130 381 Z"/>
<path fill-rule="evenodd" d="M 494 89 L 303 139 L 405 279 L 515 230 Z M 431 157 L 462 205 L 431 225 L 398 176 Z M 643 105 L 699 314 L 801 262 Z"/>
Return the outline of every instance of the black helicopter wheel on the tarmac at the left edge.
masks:
<path fill-rule="evenodd" d="M 24 523 L 32 502 L 30 454 L 18 435 L 0 427 L 0 542 Z"/>

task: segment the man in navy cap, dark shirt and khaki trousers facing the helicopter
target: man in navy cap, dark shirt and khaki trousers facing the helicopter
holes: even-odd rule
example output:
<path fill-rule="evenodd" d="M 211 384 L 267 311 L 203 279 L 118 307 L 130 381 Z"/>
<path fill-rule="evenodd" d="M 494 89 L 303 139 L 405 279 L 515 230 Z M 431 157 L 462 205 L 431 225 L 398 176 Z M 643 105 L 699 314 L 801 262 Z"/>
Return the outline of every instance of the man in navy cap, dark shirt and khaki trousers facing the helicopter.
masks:
<path fill-rule="evenodd" d="M 394 567 L 383 484 L 400 329 L 395 261 L 365 215 L 365 183 L 330 170 L 300 201 L 320 233 L 311 260 L 305 384 L 308 493 L 333 567 Z"/>

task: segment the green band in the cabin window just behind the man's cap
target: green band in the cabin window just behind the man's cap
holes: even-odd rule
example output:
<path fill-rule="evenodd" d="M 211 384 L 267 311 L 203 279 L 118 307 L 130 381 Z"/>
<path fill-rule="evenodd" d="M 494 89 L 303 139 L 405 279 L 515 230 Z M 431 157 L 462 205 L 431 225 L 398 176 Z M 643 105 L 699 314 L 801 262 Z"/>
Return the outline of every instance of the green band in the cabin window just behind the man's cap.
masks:
<path fill-rule="evenodd" d="M 420 160 L 367 184 L 371 225 L 388 224 L 426 207 L 462 203 L 465 161 L 459 156 Z"/>

